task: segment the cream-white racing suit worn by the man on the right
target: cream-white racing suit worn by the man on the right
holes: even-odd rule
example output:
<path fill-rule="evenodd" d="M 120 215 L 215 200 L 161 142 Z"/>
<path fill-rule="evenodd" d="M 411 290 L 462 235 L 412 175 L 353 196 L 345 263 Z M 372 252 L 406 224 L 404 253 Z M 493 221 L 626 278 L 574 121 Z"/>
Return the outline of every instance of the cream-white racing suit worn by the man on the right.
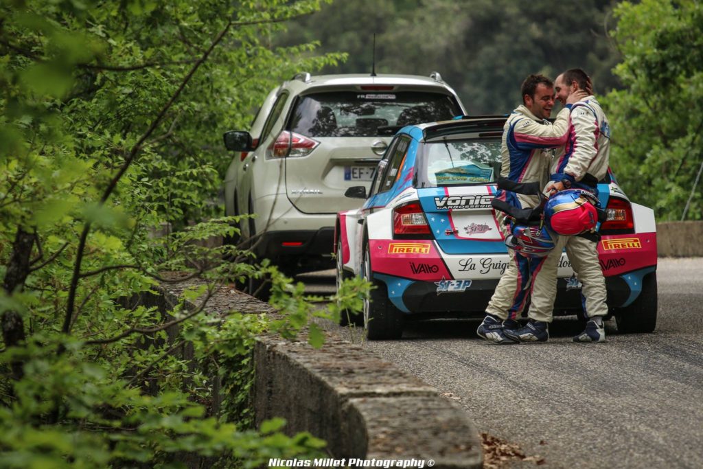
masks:
<path fill-rule="evenodd" d="M 551 166 L 552 181 L 567 180 L 574 188 L 583 188 L 598 195 L 598 181 L 605 177 L 610 155 L 610 124 L 593 96 L 572 105 L 569 116 L 569 139 L 562 155 Z M 582 236 L 560 236 L 559 245 L 566 248 L 576 278 L 583 284 L 581 302 L 587 317 L 605 316 L 608 312 L 605 277 L 598 262 L 597 241 Z M 556 265 L 559 256 L 548 258 Z M 556 274 L 554 276 L 556 283 Z M 552 302 L 554 298 L 552 299 Z M 530 311 L 531 313 L 531 311 Z M 531 314 L 530 314 L 531 317 Z M 543 319 L 537 319 L 543 321 Z"/>

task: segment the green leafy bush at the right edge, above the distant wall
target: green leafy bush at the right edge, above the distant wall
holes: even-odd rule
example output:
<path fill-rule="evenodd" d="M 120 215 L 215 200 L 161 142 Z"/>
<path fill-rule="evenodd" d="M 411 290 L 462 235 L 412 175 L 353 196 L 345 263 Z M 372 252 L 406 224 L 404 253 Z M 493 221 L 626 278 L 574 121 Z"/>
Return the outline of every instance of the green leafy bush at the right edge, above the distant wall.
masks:
<path fill-rule="evenodd" d="M 615 15 L 623 60 L 614 71 L 627 88 L 604 100 L 612 167 L 658 219 L 702 219 L 703 6 L 624 2 Z"/>

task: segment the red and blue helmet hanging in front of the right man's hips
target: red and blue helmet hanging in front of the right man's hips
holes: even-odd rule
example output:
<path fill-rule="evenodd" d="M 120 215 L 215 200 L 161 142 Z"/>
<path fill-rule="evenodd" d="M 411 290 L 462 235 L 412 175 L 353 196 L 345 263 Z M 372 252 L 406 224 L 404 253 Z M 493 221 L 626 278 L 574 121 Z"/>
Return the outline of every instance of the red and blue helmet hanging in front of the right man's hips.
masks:
<path fill-rule="evenodd" d="M 567 189 L 552 195 L 544 206 L 544 216 L 552 231 L 562 236 L 574 236 L 595 229 L 598 199 L 581 189 Z"/>

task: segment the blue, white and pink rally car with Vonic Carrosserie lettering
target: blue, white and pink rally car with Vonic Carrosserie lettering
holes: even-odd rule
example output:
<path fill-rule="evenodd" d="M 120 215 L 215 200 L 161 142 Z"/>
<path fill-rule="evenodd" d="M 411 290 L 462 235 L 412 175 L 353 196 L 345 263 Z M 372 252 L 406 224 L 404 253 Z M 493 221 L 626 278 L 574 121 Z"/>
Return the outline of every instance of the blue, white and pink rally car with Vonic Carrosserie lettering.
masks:
<path fill-rule="evenodd" d="M 378 163 L 358 210 L 337 214 L 337 283 L 362 276 L 375 288 L 363 308 L 369 339 L 400 338 L 411 319 L 482 317 L 508 266 L 491 200 L 501 171 L 505 116 L 403 127 Z M 612 174 L 598 184 L 607 212 L 598 255 L 621 333 L 657 321 L 654 212 L 631 203 Z M 581 283 L 562 253 L 555 314 L 579 314 Z M 344 319 L 343 319 L 344 321 Z"/>

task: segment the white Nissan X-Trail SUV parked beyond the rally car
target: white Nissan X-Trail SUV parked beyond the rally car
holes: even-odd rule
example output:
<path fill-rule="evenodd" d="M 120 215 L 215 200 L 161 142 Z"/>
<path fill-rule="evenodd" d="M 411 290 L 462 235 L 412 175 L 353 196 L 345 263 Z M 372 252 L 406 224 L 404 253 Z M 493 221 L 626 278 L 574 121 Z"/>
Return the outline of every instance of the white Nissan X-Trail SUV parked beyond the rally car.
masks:
<path fill-rule="evenodd" d="M 393 134 L 465 114 L 439 73 L 295 75 L 266 97 L 250 131 L 228 131 L 234 158 L 224 181 L 226 214 L 256 214 L 240 226 L 259 258 L 283 271 L 330 268 L 337 212 L 366 185 Z"/>

